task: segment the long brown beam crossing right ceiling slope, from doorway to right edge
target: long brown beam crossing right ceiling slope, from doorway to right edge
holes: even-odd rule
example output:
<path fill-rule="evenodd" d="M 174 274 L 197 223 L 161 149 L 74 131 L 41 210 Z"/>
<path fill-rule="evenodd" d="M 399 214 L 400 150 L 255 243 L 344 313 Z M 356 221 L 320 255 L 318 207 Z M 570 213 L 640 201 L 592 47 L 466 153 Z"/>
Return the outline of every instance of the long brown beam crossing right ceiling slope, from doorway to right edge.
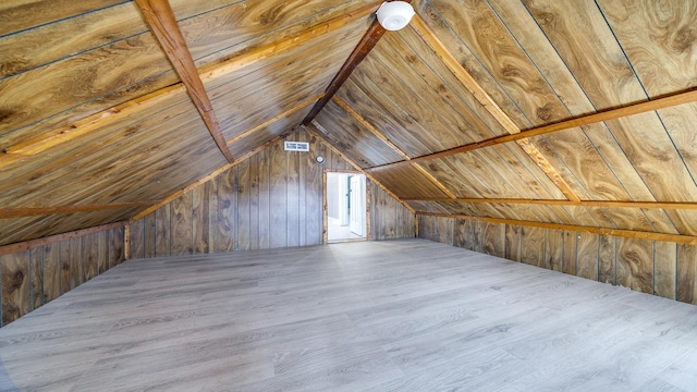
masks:
<path fill-rule="evenodd" d="M 674 106 L 692 103 L 692 102 L 697 102 L 697 89 L 677 93 L 672 96 L 657 98 L 649 101 L 641 101 L 639 103 L 633 103 L 633 105 L 621 107 L 621 108 L 610 109 L 610 110 L 606 110 L 606 111 L 594 113 L 594 114 L 582 115 L 578 118 L 561 121 L 558 123 L 542 125 L 542 126 L 534 127 L 527 131 L 522 131 L 518 134 L 497 136 L 486 140 L 470 143 L 468 145 L 463 145 L 463 146 L 450 148 L 447 150 L 412 158 L 411 161 L 387 163 L 387 164 L 372 167 L 366 170 L 372 171 L 377 169 L 388 168 L 391 166 L 409 164 L 411 162 L 421 162 L 421 161 L 427 161 L 427 160 L 432 160 L 438 158 L 450 157 L 456 154 L 474 151 L 479 148 L 497 146 L 497 145 L 510 143 L 510 142 L 516 142 L 527 137 L 541 136 L 541 135 L 546 135 L 554 132 L 571 130 L 571 128 L 583 126 L 583 125 L 589 125 L 589 124 L 595 124 L 603 121 L 621 119 L 628 115 L 641 114 L 641 113 L 646 113 L 646 112 L 650 112 L 659 109 L 672 108 Z"/>

